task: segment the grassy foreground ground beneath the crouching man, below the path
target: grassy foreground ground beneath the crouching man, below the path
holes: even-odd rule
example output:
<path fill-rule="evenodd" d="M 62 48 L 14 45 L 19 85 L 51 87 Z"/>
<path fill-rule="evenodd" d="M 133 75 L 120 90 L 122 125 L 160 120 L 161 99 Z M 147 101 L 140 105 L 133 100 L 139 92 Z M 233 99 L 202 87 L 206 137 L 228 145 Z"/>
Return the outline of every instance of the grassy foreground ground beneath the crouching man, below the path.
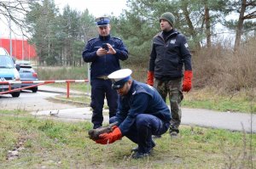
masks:
<path fill-rule="evenodd" d="M 180 138 L 156 139 L 153 155 L 131 159 L 129 139 L 95 144 L 90 122 L 36 119 L 26 111 L 0 110 L 0 168 L 253 168 L 256 135 L 181 127 Z M 18 149 L 11 159 L 9 151 Z"/>

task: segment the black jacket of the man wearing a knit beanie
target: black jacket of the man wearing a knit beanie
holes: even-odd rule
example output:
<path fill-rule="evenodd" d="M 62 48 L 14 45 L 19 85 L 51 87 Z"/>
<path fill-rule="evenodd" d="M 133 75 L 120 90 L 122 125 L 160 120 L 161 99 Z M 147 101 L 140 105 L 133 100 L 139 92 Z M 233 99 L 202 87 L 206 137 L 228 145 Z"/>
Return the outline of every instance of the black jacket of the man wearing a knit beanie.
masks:
<path fill-rule="evenodd" d="M 162 31 L 154 36 L 149 60 L 149 71 L 154 71 L 154 77 L 170 80 L 182 77 L 183 65 L 185 70 L 192 70 L 186 37 L 176 30 L 166 40 Z"/>

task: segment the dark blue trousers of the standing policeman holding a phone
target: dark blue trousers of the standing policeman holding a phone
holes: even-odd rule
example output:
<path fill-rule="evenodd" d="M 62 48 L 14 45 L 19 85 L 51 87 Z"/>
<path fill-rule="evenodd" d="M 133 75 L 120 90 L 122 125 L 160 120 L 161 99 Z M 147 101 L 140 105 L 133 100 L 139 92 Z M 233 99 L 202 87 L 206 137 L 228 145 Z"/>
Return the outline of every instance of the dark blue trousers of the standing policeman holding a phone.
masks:
<path fill-rule="evenodd" d="M 116 114 L 119 96 L 116 90 L 113 90 L 112 82 L 110 80 L 93 79 L 90 82 L 90 86 L 90 107 L 92 108 L 91 122 L 94 125 L 93 128 L 102 127 L 102 109 L 105 97 L 108 103 L 109 118 L 111 118 Z"/>

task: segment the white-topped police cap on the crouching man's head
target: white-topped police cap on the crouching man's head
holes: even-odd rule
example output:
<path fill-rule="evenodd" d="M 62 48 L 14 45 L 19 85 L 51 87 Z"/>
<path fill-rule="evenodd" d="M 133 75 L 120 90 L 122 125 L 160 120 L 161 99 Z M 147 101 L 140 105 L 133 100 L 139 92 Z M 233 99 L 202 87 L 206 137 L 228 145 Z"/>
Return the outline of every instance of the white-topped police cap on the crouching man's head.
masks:
<path fill-rule="evenodd" d="M 119 89 L 125 85 L 125 82 L 131 79 L 132 71 L 130 69 L 122 69 L 113 71 L 108 78 L 112 81 L 113 89 Z"/>

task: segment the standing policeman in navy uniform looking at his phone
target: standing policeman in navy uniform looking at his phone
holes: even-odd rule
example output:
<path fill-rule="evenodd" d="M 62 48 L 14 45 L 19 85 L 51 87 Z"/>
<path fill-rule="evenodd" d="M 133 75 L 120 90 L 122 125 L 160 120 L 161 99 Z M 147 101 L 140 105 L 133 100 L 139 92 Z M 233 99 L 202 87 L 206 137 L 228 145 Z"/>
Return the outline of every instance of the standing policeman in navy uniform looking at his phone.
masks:
<path fill-rule="evenodd" d="M 106 16 L 96 18 L 99 37 L 90 39 L 83 52 L 84 62 L 90 65 L 91 103 L 93 110 L 91 122 L 93 128 L 102 127 L 102 109 L 105 96 L 108 101 L 109 117 L 117 110 L 118 94 L 113 90 L 108 75 L 120 69 L 119 59 L 128 58 L 124 43 L 117 37 L 110 36 L 110 19 Z"/>

